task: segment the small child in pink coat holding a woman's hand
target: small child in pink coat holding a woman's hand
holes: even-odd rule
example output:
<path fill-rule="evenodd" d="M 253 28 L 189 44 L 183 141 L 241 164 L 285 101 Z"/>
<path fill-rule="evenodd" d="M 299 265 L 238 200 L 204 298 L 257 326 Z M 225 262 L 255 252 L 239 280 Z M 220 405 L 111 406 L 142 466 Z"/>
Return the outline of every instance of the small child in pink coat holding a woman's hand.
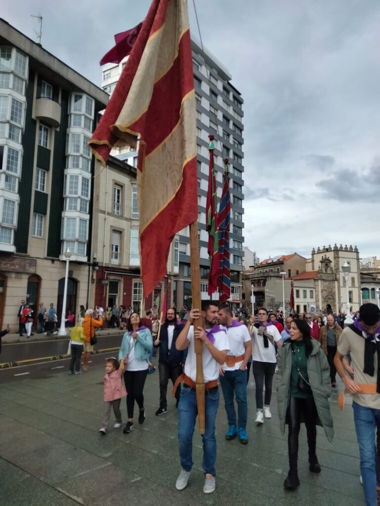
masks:
<path fill-rule="evenodd" d="M 121 360 L 124 362 L 124 358 Z M 122 425 L 122 413 L 120 411 L 120 401 L 127 392 L 122 381 L 124 368 L 120 369 L 120 364 L 115 357 L 107 358 L 105 364 L 104 376 L 104 414 L 102 427 L 99 432 L 102 436 L 107 433 L 108 421 L 111 414 L 111 408 L 115 413 L 116 423 L 113 427 L 117 429 Z"/>

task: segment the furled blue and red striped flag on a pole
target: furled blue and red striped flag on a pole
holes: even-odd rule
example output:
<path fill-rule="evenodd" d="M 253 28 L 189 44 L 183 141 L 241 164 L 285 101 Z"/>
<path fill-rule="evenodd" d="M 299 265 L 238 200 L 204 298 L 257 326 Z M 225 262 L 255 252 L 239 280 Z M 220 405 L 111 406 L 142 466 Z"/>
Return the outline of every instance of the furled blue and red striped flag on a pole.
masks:
<path fill-rule="evenodd" d="M 218 256 L 219 256 L 219 302 L 228 301 L 231 297 L 230 273 L 230 177 L 229 159 L 224 158 L 223 190 L 218 213 Z"/>

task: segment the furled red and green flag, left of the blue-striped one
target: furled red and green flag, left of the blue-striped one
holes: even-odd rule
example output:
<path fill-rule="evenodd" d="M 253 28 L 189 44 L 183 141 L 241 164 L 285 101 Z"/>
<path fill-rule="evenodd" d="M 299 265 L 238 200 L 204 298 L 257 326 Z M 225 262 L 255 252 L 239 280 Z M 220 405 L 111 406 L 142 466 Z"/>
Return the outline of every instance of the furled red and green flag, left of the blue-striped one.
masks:
<path fill-rule="evenodd" d="M 218 234 L 217 227 L 217 200 L 216 200 L 216 176 L 214 169 L 214 136 L 210 134 L 210 163 L 208 173 L 208 190 L 206 199 L 206 230 L 208 232 L 208 256 L 210 259 L 210 274 L 208 277 L 208 294 L 211 296 L 216 291 L 218 286 L 218 270 L 219 270 L 219 256 L 218 256 Z"/>

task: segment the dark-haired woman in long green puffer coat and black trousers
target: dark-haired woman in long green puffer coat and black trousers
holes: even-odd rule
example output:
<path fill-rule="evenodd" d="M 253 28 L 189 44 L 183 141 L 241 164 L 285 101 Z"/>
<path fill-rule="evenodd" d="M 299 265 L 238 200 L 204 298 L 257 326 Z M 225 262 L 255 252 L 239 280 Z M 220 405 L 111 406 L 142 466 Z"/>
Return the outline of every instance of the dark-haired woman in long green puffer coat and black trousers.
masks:
<path fill-rule="evenodd" d="M 289 473 L 284 487 L 294 490 L 299 485 L 297 472 L 298 434 L 305 422 L 309 446 L 309 470 L 320 473 L 316 455 L 317 425 L 321 425 L 327 439 L 332 440 L 332 416 L 328 397 L 331 395 L 330 367 L 318 341 L 310 335 L 305 320 L 295 319 L 290 327 L 290 339 L 279 348 L 278 357 L 278 413 L 281 432 L 289 426 Z"/>

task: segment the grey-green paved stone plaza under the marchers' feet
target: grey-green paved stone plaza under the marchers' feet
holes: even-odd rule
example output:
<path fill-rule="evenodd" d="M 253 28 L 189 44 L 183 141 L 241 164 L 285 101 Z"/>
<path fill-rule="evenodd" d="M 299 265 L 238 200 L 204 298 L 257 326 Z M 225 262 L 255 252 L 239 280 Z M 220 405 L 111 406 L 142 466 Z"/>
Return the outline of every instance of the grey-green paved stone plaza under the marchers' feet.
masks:
<path fill-rule="evenodd" d="M 65 364 L 67 364 L 65 362 Z M 320 475 L 308 469 L 306 432 L 302 426 L 297 491 L 283 489 L 287 440 L 282 437 L 273 396 L 273 418 L 256 428 L 254 383 L 248 387 L 249 444 L 225 441 L 226 417 L 222 396 L 217 415 L 216 490 L 203 493 L 202 442 L 194 437 L 195 466 L 187 488 L 175 490 L 179 458 L 175 401 L 155 416 L 159 399 L 158 373 L 145 386 L 144 425 L 124 435 L 122 428 L 102 437 L 103 365 L 91 364 L 78 376 L 67 367 L 50 376 L 26 378 L 0 386 L 0 475 L 4 506 L 361 506 L 359 458 L 352 408 L 344 412 L 331 397 L 335 438 L 329 443 L 318 428 Z M 341 384 L 338 384 L 341 388 Z M 221 395 L 221 394 L 220 394 Z M 126 420 L 125 400 L 122 403 Z M 137 412 L 137 409 L 136 409 Z M 111 417 L 111 422 L 113 418 Z"/>

